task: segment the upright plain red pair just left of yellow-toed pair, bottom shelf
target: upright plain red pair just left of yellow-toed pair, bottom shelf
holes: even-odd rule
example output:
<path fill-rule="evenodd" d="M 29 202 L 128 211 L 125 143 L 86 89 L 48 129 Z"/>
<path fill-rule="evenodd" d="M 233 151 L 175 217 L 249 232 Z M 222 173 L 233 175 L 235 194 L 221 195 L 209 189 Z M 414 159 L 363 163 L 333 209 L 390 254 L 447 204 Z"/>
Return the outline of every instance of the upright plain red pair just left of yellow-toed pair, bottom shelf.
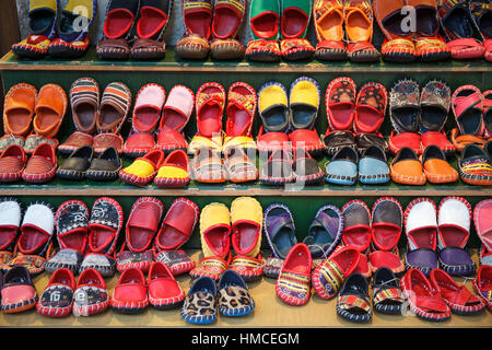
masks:
<path fill-rule="evenodd" d="M 119 272 L 130 268 L 148 271 L 154 260 L 172 262 L 161 256 L 163 250 L 178 250 L 191 236 L 198 223 L 200 209 L 189 199 L 179 197 L 173 201 L 164 217 L 164 205 L 155 197 L 140 197 L 131 207 L 127 220 L 125 243 L 117 256 Z M 161 219 L 164 219 L 161 222 Z M 172 266 L 169 265 L 169 268 Z M 194 266 L 191 265 L 190 268 Z M 176 275 L 186 271 L 176 268 Z"/>

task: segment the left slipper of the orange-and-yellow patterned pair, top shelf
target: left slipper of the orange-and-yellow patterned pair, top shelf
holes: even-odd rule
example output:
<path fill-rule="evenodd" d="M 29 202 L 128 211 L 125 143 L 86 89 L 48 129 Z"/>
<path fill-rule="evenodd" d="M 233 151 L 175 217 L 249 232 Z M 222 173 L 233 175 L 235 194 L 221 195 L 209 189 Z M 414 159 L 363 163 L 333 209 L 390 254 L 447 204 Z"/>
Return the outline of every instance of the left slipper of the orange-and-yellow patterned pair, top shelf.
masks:
<path fill-rule="evenodd" d="M 343 5 L 336 0 L 315 0 L 313 18 L 318 44 L 316 58 L 327 61 L 347 59 L 343 42 Z"/>

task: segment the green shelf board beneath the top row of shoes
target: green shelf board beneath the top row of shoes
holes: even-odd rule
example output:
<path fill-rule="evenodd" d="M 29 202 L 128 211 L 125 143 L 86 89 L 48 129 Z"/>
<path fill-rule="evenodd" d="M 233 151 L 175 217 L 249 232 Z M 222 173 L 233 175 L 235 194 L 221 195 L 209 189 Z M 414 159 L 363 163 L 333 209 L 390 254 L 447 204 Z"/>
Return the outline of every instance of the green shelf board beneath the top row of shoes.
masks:
<path fill-rule="evenodd" d="M 30 60 L 17 58 L 12 51 L 0 60 L 0 70 L 115 70 L 115 71 L 251 71 L 251 72 L 491 72 L 492 63 L 484 60 L 449 60 L 445 62 L 412 63 L 354 63 L 323 62 L 313 60 L 296 62 L 249 62 L 246 60 L 184 60 L 176 56 L 174 48 L 168 48 L 164 59 L 159 61 L 106 61 L 99 60 L 95 47 L 77 60 L 51 59 Z"/>

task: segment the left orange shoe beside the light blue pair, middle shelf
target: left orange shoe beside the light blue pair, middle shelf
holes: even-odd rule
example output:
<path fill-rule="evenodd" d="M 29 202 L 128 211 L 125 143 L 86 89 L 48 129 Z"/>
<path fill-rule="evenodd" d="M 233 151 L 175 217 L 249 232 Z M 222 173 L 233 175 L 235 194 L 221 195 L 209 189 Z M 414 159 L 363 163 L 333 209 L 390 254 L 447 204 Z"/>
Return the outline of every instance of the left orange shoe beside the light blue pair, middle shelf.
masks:
<path fill-rule="evenodd" d="M 417 153 L 408 147 L 398 152 L 389 171 L 393 182 L 397 184 L 423 185 L 426 182 L 422 163 L 419 162 Z"/>

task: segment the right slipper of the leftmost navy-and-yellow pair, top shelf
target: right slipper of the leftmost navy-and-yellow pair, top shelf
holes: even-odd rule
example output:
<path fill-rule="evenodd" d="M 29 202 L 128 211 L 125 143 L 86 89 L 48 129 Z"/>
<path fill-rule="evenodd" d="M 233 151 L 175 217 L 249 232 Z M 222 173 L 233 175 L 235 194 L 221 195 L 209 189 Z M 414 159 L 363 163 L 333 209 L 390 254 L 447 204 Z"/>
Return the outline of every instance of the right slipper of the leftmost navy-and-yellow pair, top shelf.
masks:
<path fill-rule="evenodd" d="M 87 48 L 89 30 L 97 15 L 96 0 L 70 0 L 61 10 L 57 24 L 58 36 L 48 46 L 55 58 L 79 58 Z"/>

